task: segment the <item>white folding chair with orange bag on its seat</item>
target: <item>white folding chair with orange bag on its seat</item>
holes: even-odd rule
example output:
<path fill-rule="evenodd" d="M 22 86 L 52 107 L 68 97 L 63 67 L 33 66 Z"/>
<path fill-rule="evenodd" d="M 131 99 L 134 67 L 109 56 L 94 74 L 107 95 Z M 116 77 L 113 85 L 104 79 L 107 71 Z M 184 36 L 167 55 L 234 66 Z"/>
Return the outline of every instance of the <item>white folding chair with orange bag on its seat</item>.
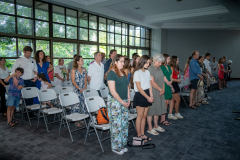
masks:
<path fill-rule="evenodd" d="M 85 138 L 85 142 L 84 142 L 84 145 L 86 144 L 87 142 L 87 136 L 90 132 L 93 132 L 95 131 L 96 135 L 97 135 L 97 138 L 98 138 L 98 142 L 102 148 L 102 151 L 104 152 L 103 150 L 103 147 L 102 147 L 102 141 L 105 141 L 107 140 L 108 138 L 110 137 L 107 137 L 103 140 L 101 140 L 99 138 L 99 135 L 97 133 L 97 129 L 98 130 L 101 130 L 101 131 L 107 131 L 109 130 L 109 124 L 101 124 L 101 125 L 97 125 L 95 124 L 95 119 L 94 119 L 94 116 L 92 114 L 94 114 L 95 112 L 97 112 L 99 110 L 99 107 L 100 106 L 106 106 L 105 105 L 105 102 L 103 100 L 102 97 L 99 97 L 99 96 L 93 96 L 93 97 L 87 97 L 85 99 L 85 104 L 86 104 L 86 107 L 87 107 L 87 110 L 88 110 L 88 113 L 89 113 L 89 117 L 90 117 L 90 120 L 89 120 L 89 124 L 87 126 L 87 133 L 86 133 L 86 138 Z M 89 128 L 92 127 L 93 130 L 89 130 Z"/>

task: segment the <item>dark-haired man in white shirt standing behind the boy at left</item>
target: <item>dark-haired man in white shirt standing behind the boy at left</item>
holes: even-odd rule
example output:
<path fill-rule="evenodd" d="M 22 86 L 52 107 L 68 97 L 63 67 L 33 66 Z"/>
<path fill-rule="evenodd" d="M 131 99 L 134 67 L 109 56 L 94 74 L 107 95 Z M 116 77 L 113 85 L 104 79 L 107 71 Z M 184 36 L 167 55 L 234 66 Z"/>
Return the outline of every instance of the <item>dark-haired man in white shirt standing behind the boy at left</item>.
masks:
<path fill-rule="evenodd" d="M 24 80 L 25 87 L 36 87 L 36 80 L 38 74 L 38 68 L 36 61 L 31 58 L 33 49 L 30 46 L 25 46 L 23 48 L 23 57 L 18 58 L 12 67 L 12 74 L 15 73 L 16 68 L 23 68 L 24 73 L 21 78 Z M 18 85 L 18 80 L 16 77 L 13 78 L 13 83 L 15 86 Z M 26 99 L 26 105 L 33 105 L 33 99 Z"/>

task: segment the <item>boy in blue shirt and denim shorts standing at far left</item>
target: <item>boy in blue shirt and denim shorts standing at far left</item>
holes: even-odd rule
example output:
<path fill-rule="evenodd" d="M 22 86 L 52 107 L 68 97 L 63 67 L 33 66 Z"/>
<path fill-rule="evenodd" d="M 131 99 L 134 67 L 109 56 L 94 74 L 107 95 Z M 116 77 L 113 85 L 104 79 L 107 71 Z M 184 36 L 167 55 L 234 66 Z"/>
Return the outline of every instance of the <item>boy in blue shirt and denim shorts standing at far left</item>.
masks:
<path fill-rule="evenodd" d="M 8 89 L 8 100 L 7 100 L 7 124 L 13 127 L 17 121 L 13 120 L 13 113 L 16 108 L 19 108 L 20 98 L 22 96 L 21 89 L 24 88 L 24 80 L 20 78 L 24 73 L 24 70 L 20 67 L 16 68 L 15 73 L 4 79 L 5 82 L 9 83 Z M 18 80 L 18 86 L 13 85 L 13 77 Z"/>

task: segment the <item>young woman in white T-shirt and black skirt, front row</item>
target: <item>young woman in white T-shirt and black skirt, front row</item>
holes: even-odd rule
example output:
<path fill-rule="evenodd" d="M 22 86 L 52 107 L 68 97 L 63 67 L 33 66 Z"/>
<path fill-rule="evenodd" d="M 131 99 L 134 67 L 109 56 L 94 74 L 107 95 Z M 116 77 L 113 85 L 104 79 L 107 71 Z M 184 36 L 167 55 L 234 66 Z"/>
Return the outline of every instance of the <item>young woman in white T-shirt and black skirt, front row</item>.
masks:
<path fill-rule="evenodd" d="M 145 139 L 146 141 L 151 140 L 144 135 L 144 129 L 148 109 L 153 102 L 152 86 L 150 82 L 151 76 L 150 72 L 146 70 L 150 64 L 150 61 L 151 60 L 149 56 L 143 55 L 133 73 L 134 91 L 136 92 L 133 105 L 136 106 L 137 109 L 137 136 Z"/>

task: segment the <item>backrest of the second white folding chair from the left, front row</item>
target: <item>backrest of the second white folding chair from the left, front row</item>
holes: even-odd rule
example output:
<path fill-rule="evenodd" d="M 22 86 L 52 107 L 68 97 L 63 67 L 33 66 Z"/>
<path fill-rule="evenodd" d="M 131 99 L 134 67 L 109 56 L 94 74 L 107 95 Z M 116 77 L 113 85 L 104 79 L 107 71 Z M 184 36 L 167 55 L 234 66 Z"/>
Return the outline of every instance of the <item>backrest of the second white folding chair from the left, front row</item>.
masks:
<path fill-rule="evenodd" d="M 57 99 L 57 94 L 53 89 L 45 89 L 37 92 L 39 102 L 46 102 Z"/>

